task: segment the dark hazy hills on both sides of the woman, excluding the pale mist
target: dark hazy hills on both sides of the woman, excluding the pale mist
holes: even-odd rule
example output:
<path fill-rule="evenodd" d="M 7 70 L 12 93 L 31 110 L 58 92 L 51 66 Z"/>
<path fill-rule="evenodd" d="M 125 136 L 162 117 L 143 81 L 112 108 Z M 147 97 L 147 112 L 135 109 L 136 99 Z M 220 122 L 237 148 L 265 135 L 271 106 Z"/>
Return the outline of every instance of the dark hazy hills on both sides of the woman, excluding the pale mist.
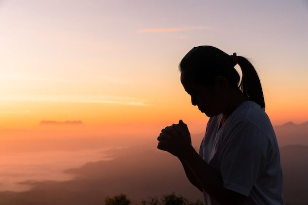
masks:
<path fill-rule="evenodd" d="M 286 123 L 275 126 L 275 131 L 280 145 L 285 204 L 307 205 L 308 123 Z M 140 204 L 141 199 L 159 198 L 173 192 L 190 201 L 202 200 L 201 192 L 189 183 L 179 160 L 157 150 L 154 141 L 104 151 L 113 160 L 68 169 L 65 172 L 75 176 L 71 180 L 21 182 L 31 185 L 32 189 L 0 192 L 0 205 L 97 205 L 104 204 L 106 196 L 120 193 L 125 194 L 132 205 Z M 297 142 L 299 145 L 294 145 Z"/>

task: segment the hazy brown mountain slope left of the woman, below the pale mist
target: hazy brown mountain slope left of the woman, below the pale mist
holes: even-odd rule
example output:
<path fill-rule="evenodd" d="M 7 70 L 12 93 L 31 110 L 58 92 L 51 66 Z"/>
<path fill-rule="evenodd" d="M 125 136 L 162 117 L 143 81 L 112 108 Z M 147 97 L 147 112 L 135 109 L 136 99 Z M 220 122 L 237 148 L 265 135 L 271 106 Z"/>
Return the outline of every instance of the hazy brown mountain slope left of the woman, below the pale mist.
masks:
<path fill-rule="evenodd" d="M 109 150 L 114 160 L 67 170 L 69 181 L 25 181 L 26 192 L 0 192 L 0 205 L 98 205 L 106 196 L 124 193 L 133 203 L 175 192 L 195 201 L 202 193 L 190 184 L 179 160 L 156 147 Z"/>

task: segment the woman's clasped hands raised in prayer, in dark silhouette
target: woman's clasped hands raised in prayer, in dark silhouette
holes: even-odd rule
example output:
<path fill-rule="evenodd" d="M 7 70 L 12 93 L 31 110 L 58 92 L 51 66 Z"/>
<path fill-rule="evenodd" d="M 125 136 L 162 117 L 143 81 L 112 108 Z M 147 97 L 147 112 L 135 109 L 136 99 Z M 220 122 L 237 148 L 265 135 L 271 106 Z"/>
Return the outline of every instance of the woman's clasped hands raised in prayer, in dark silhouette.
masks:
<path fill-rule="evenodd" d="M 162 129 L 157 140 L 158 149 L 168 151 L 177 157 L 192 147 L 188 127 L 182 120 L 179 124 L 172 124 Z"/>

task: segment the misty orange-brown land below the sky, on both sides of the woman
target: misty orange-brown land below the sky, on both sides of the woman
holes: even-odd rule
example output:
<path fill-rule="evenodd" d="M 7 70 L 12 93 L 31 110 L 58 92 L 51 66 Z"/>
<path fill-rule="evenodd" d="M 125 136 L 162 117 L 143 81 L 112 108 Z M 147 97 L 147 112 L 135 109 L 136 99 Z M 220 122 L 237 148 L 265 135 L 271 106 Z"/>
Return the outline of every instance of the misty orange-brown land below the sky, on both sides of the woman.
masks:
<path fill-rule="evenodd" d="M 307 205 L 308 122 L 274 128 L 285 203 Z M 0 205 L 97 205 L 104 204 L 106 196 L 121 193 L 133 205 L 173 192 L 191 201 L 202 200 L 180 161 L 156 148 L 155 136 L 109 136 L 99 128 L 96 131 L 100 134 L 69 126 L 35 132 L 2 130 L 1 136 L 7 138 L 0 138 Z M 196 149 L 202 137 L 203 133 L 192 133 Z"/>

